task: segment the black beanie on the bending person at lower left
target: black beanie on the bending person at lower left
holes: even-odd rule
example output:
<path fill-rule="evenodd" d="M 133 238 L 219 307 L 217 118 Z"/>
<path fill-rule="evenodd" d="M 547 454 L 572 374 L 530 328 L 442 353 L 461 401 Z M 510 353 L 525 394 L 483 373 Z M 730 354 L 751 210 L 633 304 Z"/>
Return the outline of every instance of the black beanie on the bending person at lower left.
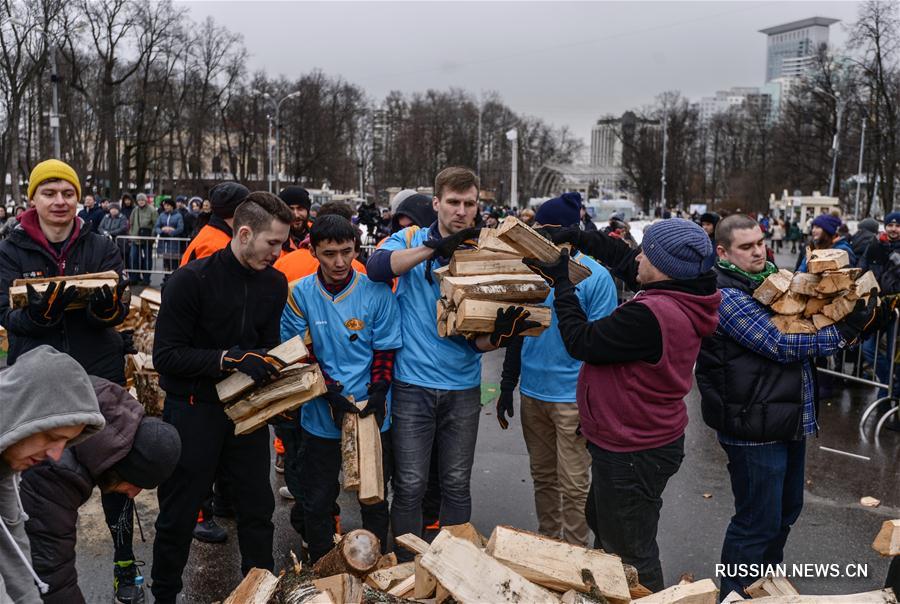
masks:
<path fill-rule="evenodd" d="M 131 451 L 112 469 L 136 487 L 155 489 L 172 475 L 179 457 L 181 438 L 175 427 L 159 418 L 145 417 L 134 434 Z"/>

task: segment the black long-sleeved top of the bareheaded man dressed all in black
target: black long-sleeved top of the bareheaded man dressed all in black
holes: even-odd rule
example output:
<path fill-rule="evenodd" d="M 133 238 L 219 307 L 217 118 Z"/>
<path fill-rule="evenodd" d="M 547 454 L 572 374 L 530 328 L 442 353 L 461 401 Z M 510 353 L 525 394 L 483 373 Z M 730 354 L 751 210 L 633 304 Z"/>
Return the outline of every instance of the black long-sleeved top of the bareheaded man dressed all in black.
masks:
<path fill-rule="evenodd" d="M 271 266 L 246 269 L 231 246 L 172 273 L 162 292 L 153 366 L 167 394 L 218 403 L 222 353 L 278 345 L 287 280 Z"/>

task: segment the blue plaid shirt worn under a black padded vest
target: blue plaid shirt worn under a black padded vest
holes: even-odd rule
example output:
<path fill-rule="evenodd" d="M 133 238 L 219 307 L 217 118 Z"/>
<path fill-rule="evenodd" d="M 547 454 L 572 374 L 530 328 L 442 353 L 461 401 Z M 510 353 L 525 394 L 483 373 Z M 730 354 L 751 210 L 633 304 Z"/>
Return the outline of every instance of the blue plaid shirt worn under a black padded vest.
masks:
<path fill-rule="evenodd" d="M 811 359 L 830 356 L 844 347 L 844 339 L 837 328 L 831 325 L 815 334 L 784 334 L 769 319 L 766 308 L 749 294 L 733 288 L 720 291 L 722 303 L 719 305 L 719 326 L 716 328 L 720 334 L 767 359 L 779 363 L 802 362 L 803 436 L 817 432 Z M 770 444 L 735 439 L 721 432 L 719 442 L 726 445 Z"/>

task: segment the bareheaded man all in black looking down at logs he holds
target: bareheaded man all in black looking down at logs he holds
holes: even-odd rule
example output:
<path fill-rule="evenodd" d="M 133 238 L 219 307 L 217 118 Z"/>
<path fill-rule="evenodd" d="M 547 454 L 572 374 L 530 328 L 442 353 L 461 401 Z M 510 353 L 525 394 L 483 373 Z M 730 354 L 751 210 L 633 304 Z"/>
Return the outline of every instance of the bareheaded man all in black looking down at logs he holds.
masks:
<path fill-rule="evenodd" d="M 182 589 L 197 509 L 220 461 L 229 482 L 241 485 L 232 493 L 241 570 L 272 570 L 269 431 L 235 436 L 216 383 L 229 371 L 263 383 L 281 367 L 266 351 L 280 342 L 287 281 L 272 264 L 291 220 L 274 195 L 250 194 L 234 213 L 231 243 L 178 269 L 163 288 L 153 364 L 166 391 L 163 419 L 178 429 L 182 454 L 158 492 L 152 591 L 160 604 L 174 603 Z"/>

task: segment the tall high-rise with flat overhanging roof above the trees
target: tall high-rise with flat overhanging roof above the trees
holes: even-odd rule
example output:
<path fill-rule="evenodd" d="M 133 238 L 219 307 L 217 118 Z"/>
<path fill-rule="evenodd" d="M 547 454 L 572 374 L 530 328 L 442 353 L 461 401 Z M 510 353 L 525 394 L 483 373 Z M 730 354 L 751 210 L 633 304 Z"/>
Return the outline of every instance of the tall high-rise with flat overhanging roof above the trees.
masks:
<path fill-rule="evenodd" d="M 766 40 L 766 82 L 776 78 L 799 78 L 816 53 L 828 44 L 828 28 L 839 19 L 810 17 L 759 30 Z"/>

